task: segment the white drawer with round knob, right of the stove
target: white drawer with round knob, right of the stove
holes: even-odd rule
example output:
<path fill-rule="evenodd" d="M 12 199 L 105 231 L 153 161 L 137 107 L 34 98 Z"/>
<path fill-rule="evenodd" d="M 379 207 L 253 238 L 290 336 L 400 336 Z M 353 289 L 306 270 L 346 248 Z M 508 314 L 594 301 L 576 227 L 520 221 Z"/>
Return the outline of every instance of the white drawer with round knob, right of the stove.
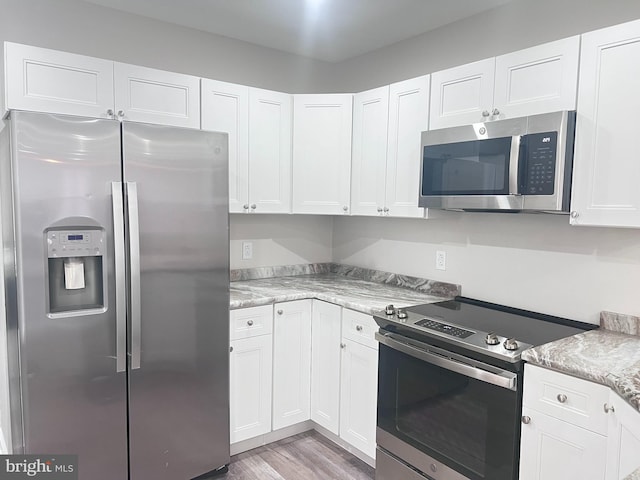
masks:
<path fill-rule="evenodd" d="M 606 435 L 608 400 L 609 388 L 604 385 L 525 365 L 522 403 L 526 407 Z"/>

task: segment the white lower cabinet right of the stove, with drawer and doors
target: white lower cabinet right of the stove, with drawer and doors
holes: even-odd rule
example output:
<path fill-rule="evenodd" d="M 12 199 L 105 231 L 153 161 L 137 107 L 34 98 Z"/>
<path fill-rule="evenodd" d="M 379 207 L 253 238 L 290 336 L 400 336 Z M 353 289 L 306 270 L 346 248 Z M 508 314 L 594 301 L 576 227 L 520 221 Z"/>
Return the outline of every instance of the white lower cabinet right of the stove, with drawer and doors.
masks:
<path fill-rule="evenodd" d="M 520 480 L 622 480 L 639 452 L 640 413 L 617 393 L 525 366 Z"/>

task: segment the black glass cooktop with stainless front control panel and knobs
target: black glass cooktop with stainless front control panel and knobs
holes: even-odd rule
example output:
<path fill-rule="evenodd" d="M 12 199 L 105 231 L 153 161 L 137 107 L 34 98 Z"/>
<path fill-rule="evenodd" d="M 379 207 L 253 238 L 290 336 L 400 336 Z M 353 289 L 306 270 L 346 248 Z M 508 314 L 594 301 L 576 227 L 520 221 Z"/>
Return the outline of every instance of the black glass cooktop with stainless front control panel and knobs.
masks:
<path fill-rule="evenodd" d="M 598 328 L 466 297 L 406 309 L 389 305 L 374 318 L 386 330 L 430 337 L 510 363 L 520 361 L 527 348 Z"/>

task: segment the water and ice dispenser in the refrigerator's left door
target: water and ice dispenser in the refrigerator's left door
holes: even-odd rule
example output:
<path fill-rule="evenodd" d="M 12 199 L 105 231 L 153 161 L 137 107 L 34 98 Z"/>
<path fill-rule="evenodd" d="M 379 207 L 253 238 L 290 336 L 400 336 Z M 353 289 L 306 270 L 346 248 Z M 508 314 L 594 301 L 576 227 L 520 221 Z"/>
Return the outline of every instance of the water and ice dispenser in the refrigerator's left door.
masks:
<path fill-rule="evenodd" d="M 47 230 L 45 235 L 49 312 L 104 308 L 104 230 L 56 228 Z"/>

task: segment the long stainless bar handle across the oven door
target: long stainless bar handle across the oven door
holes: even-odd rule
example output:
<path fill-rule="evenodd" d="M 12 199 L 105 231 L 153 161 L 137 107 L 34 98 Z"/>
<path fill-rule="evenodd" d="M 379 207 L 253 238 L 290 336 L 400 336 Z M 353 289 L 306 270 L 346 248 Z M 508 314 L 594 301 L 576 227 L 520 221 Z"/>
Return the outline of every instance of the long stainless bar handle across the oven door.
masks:
<path fill-rule="evenodd" d="M 497 387 L 506 388 L 515 391 L 517 389 L 518 376 L 513 372 L 503 371 L 495 368 L 495 372 L 478 368 L 477 366 L 468 365 L 458 360 L 451 360 L 438 354 L 431 353 L 426 349 L 423 350 L 417 346 L 397 340 L 392 333 L 381 334 L 376 332 L 376 340 L 378 342 L 393 348 L 402 353 L 406 353 L 418 360 L 442 367 L 452 372 L 459 373 L 465 377 L 474 378 L 481 382 L 490 383 Z M 427 348 L 425 346 L 425 348 Z M 487 367 L 492 368 L 490 365 Z"/>

